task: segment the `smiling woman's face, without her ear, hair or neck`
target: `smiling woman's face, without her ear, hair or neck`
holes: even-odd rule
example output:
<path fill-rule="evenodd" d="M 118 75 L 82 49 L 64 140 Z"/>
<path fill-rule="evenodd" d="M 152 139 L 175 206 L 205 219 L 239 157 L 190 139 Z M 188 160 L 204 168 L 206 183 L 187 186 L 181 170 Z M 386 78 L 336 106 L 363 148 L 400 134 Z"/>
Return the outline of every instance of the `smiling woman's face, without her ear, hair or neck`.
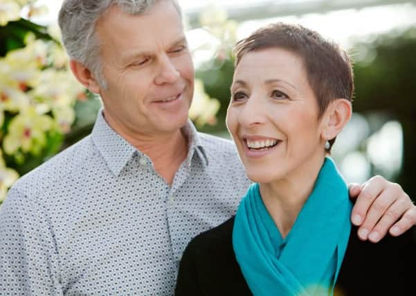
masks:
<path fill-rule="evenodd" d="M 290 51 L 262 49 L 243 56 L 226 122 L 254 182 L 305 177 L 325 155 L 316 96 L 302 59 Z"/>

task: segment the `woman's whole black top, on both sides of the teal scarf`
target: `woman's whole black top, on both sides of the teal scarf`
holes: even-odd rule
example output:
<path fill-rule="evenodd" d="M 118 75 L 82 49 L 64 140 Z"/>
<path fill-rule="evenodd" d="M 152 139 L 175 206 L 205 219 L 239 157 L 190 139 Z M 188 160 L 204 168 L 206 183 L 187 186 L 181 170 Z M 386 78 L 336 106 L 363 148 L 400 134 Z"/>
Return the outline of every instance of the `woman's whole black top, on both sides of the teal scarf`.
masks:
<path fill-rule="evenodd" d="M 252 295 L 235 260 L 234 218 L 192 239 L 183 253 L 175 295 Z M 335 295 L 416 295 L 415 227 L 379 243 L 352 227 Z M 271 291 L 270 295 L 274 295 Z"/>

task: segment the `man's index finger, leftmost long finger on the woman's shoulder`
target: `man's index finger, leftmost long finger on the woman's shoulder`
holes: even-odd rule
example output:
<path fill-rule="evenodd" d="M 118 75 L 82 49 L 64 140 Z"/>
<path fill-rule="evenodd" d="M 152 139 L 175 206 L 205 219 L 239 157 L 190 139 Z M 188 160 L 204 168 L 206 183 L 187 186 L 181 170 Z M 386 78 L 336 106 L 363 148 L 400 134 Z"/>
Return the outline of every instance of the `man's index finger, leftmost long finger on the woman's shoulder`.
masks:
<path fill-rule="evenodd" d="M 351 220 L 354 225 L 362 225 L 372 202 L 374 202 L 383 190 L 383 184 L 386 184 L 385 182 L 370 182 L 374 178 L 376 177 L 372 177 L 368 182 L 363 184 L 361 192 L 356 198 L 351 213 Z"/>

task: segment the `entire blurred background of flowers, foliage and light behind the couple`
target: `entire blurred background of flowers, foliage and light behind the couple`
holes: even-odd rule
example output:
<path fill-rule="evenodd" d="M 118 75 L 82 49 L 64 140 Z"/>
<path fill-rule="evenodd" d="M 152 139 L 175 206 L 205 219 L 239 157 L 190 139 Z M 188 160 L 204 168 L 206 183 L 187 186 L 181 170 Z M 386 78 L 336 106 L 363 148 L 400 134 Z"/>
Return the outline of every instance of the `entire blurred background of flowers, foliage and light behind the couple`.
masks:
<path fill-rule="evenodd" d="M 60 0 L 0 0 L 0 203 L 21 175 L 91 131 L 100 99 L 71 76 Z M 416 0 L 179 0 L 197 83 L 190 118 L 229 137 L 233 44 L 275 21 L 302 24 L 354 60 L 354 116 L 333 157 L 347 182 L 375 174 L 416 198 Z"/>

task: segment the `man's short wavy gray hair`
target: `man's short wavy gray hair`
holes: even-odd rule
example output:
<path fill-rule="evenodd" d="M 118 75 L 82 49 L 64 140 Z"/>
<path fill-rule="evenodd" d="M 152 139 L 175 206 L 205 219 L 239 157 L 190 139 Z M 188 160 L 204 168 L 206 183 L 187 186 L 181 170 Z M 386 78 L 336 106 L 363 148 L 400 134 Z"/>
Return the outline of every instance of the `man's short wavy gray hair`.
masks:
<path fill-rule="evenodd" d="M 96 23 L 111 6 L 118 6 L 131 15 L 149 11 L 159 1 L 172 1 L 181 17 L 177 0 L 64 0 L 58 22 L 62 42 L 73 60 L 77 60 L 93 73 L 100 87 L 107 89 L 102 75 L 100 44 L 96 35 Z M 148 28 L 143 28 L 147 30 Z"/>

